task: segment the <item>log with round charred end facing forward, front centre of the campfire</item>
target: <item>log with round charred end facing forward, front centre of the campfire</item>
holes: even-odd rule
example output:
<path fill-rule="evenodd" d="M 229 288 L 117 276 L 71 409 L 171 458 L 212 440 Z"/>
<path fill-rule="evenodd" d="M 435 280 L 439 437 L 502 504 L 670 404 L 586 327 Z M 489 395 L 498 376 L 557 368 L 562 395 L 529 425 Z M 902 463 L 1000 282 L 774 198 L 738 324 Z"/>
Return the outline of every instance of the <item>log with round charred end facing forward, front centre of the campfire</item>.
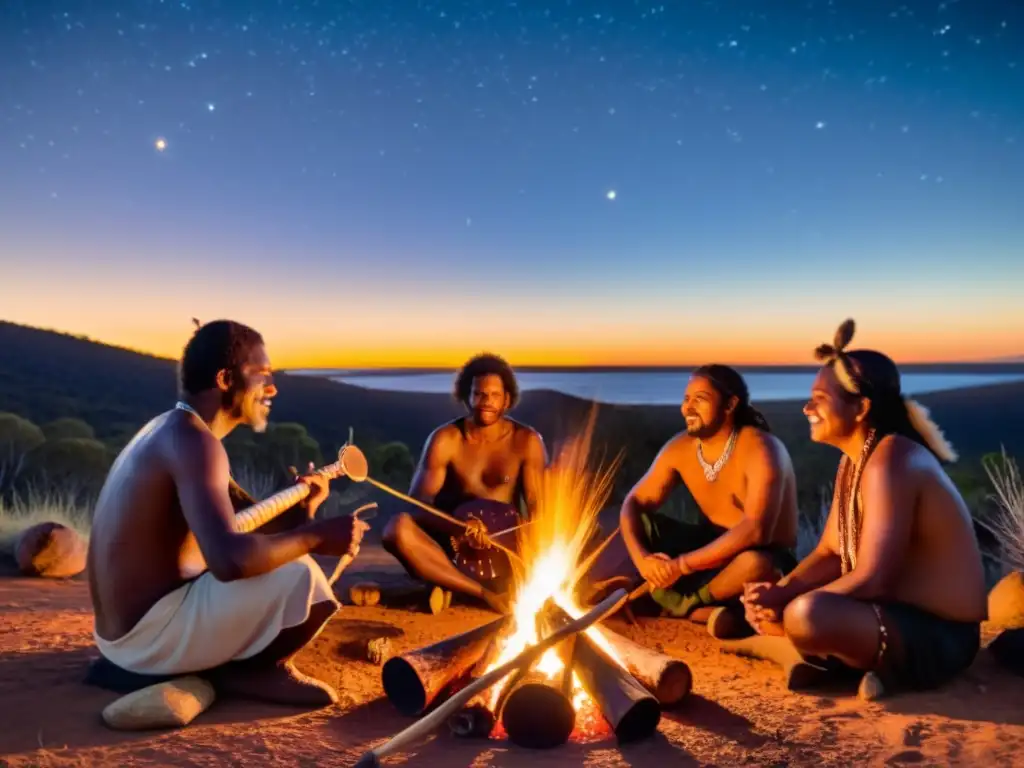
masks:
<path fill-rule="evenodd" d="M 564 625 L 554 626 L 547 613 L 537 616 L 538 636 L 547 637 Z M 502 692 L 499 711 L 509 740 L 519 746 L 548 750 L 564 744 L 575 726 L 572 706 L 572 655 L 575 637 L 553 650 L 562 663 L 554 676 L 535 665 L 522 670 Z M 540 662 L 538 662 L 540 664 Z"/>

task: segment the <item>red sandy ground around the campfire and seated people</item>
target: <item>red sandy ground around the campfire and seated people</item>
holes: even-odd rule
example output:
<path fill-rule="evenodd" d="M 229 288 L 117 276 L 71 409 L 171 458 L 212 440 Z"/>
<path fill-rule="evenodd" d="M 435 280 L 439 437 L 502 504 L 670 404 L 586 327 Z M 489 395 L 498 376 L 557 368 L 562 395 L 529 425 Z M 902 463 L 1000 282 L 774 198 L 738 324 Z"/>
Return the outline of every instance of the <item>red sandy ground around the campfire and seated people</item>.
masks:
<path fill-rule="evenodd" d="M 386 560 L 364 551 L 377 578 Z M 347 573 L 346 584 L 367 573 Z M 420 612 L 418 612 L 420 611 Z M 81 579 L 0 578 L 0 765 L 223 766 L 352 765 L 407 726 L 383 697 L 380 668 L 356 657 L 360 638 L 389 635 L 401 651 L 469 629 L 494 614 L 455 606 L 431 617 L 410 607 L 346 605 L 297 665 L 337 686 L 329 711 L 218 701 L 177 731 L 108 730 L 99 712 L 116 695 L 80 683 L 91 648 L 91 614 Z M 1000 674 L 986 652 L 938 693 L 863 703 L 852 694 L 786 691 L 778 670 L 720 652 L 684 622 L 613 622 L 635 640 L 659 644 L 690 666 L 694 687 L 657 733 L 620 748 L 612 739 L 534 752 L 502 740 L 460 740 L 440 732 L 387 765 L 1014 765 L 1024 750 L 1024 681 Z M 991 637 L 986 632 L 986 641 Z M 1021 758 L 1017 758 L 1021 765 Z"/>

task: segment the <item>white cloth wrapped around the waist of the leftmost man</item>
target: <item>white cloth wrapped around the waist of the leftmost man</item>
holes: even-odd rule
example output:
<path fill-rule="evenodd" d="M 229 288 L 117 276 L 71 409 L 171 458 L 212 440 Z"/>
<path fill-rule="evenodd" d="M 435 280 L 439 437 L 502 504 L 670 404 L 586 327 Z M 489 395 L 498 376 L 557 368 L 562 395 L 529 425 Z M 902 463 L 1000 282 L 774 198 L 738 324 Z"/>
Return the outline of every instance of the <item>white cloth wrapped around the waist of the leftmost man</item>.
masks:
<path fill-rule="evenodd" d="M 93 632 L 99 652 L 140 675 L 203 672 L 249 658 L 283 630 L 298 627 L 316 603 L 338 604 L 308 555 L 252 579 L 217 581 L 206 572 L 158 600 L 118 640 Z"/>

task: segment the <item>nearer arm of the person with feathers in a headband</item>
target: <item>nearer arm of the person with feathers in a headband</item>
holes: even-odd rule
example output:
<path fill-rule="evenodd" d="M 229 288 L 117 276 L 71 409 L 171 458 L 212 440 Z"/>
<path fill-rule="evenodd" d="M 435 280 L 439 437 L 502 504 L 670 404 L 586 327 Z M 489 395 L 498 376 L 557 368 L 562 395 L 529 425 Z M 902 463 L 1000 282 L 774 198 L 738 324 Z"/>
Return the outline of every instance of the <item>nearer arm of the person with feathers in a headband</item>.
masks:
<path fill-rule="evenodd" d="M 860 478 L 864 506 L 857 565 L 817 591 L 860 600 L 887 594 L 910 546 L 916 501 L 911 463 L 910 449 L 898 440 L 884 440 L 874 450 Z"/>

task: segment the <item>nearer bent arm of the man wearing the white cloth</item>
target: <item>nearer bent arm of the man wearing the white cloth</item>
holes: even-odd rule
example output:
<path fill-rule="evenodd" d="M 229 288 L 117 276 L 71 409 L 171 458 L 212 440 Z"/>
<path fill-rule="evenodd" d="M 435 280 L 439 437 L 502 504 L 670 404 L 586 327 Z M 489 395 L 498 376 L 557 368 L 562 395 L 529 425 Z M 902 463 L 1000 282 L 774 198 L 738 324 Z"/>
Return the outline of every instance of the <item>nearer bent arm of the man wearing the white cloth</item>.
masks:
<path fill-rule="evenodd" d="M 214 578 L 221 582 L 266 573 L 319 546 L 315 526 L 283 534 L 238 534 L 228 493 L 230 467 L 213 435 L 182 429 L 169 457 L 181 511 Z"/>

